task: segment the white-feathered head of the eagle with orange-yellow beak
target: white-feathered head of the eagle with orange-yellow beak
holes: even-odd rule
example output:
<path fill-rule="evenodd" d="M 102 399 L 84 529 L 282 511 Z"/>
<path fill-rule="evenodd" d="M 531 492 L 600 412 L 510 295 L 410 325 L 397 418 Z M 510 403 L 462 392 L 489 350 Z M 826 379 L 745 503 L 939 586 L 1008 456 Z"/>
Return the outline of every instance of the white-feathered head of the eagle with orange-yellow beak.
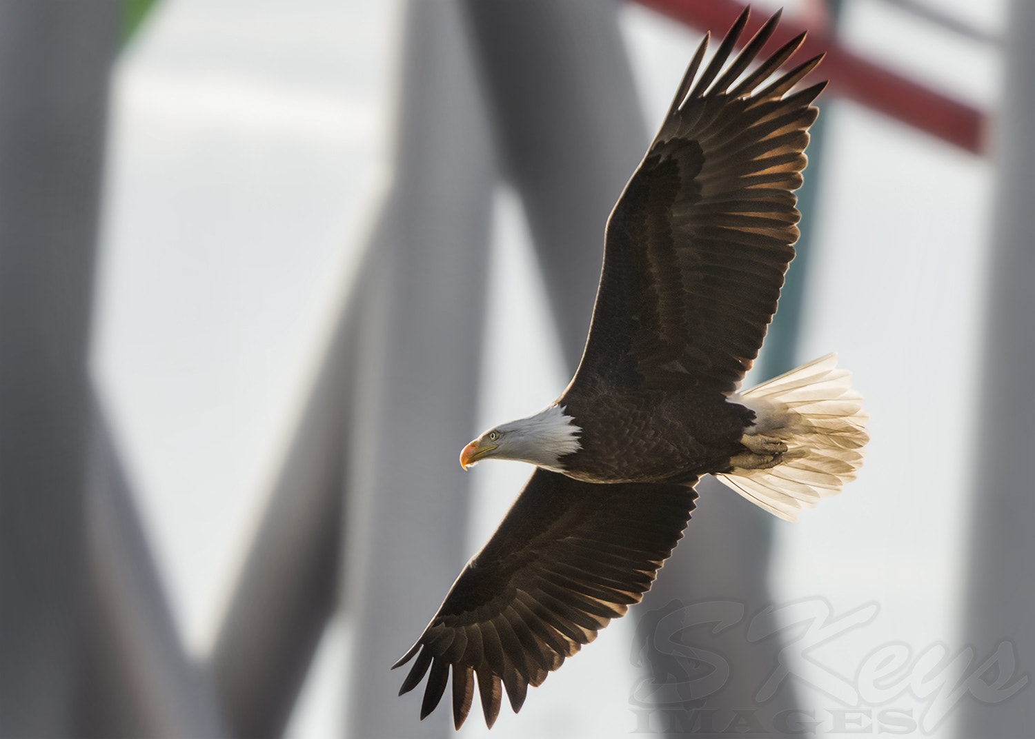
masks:
<path fill-rule="evenodd" d="M 580 433 L 574 419 L 554 404 L 535 415 L 490 429 L 464 448 L 460 463 L 467 469 L 483 459 L 513 459 L 562 472 L 561 457 L 582 449 Z"/>

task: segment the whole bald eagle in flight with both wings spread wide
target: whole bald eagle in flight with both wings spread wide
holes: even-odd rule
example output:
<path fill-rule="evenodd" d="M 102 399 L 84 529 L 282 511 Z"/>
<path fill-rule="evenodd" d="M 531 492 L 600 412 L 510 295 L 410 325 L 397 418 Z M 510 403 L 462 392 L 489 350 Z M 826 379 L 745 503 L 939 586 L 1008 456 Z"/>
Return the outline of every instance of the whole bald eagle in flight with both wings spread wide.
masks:
<path fill-rule="evenodd" d="M 777 75 L 804 34 L 749 69 L 778 17 L 727 65 L 745 10 L 700 75 L 707 35 L 698 48 L 608 221 L 567 389 L 461 454 L 465 468 L 497 458 L 536 469 L 393 666 L 416 657 L 400 695 L 428 674 L 421 718 L 450 672 L 457 729 L 475 682 L 490 727 L 501 683 L 516 712 L 529 685 L 640 602 L 683 535 L 701 475 L 794 520 L 861 465 L 867 417 L 833 355 L 738 392 L 794 257 L 793 191 L 826 84 L 795 89 L 821 57 Z"/>

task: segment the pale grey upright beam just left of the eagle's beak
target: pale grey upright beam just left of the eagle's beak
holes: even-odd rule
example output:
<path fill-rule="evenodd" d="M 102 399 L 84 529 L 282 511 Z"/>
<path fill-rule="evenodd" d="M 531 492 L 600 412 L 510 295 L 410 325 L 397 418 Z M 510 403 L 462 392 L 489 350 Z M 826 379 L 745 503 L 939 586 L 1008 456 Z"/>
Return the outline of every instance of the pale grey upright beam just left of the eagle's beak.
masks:
<path fill-rule="evenodd" d="M 455 0 L 406 6 L 394 189 L 374 244 L 349 457 L 349 735 L 447 736 L 388 668 L 463 566 L 495 165 Z"/>

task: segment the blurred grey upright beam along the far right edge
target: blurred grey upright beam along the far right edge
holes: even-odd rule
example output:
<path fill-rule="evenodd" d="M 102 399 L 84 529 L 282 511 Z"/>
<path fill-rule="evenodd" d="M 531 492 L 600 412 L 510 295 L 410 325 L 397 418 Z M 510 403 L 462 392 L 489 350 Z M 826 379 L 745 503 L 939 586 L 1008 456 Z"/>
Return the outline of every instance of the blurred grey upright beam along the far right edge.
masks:
<path fill-rule="evenodd" d="M 971 690 L 960 737 L 1031 736 L 1035 725 L 1032 686 L 1011 692 L 1035 666 L 1035 3 L 1013 0 L 1006 29 L 980 404 L 972 437 L 960 439 L 977 475 L 965 634 L 978 660 L 1005 651 L 995 670 L 978 671 L 995 689 Z"/>

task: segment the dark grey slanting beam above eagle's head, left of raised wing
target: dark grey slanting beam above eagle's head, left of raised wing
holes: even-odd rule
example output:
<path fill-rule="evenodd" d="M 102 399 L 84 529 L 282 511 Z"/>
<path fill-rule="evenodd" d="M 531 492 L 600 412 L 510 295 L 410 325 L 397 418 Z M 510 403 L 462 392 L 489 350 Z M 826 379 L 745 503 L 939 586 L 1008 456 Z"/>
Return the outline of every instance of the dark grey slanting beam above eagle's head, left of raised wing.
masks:
<path fill-rule="evenodd" d="M 506 175 L 525 205 L 568 368 L 589 333 L 603 227 L 650 140 L 598 0 L 466 0 Z"/>

